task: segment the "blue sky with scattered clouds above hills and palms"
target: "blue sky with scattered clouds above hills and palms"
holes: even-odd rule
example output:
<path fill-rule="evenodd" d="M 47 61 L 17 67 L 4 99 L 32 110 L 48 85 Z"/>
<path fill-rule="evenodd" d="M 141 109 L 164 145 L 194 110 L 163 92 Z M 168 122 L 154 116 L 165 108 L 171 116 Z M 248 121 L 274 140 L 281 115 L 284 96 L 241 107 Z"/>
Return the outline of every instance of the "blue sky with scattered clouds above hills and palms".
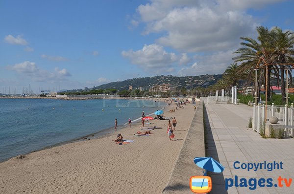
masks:
<path fill-rule="evenodd" d="M 293 31 L 293 8 L 293 0 L 1 0 L 0 93 L 222 74 L 257 26 Z"/>

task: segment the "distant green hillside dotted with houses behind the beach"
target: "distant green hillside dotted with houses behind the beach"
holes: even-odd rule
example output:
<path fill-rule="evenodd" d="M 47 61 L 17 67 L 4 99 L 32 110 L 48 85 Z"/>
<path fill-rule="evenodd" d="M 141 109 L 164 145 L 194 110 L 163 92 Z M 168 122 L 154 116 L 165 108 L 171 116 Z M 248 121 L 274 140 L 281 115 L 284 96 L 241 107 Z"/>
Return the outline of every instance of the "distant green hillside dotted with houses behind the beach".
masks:
<path fill-rule="evenodd" d="M 161 85 L 161 84 L 171 84 L 175 88 L 185 87 L 186 89 L 193 89 L 196 87 L 207 87 L 214 85 L 218 80 L 220 80 L 222 75 L 199 75 L 199 76 L 185 76 L 176 77 L 172 75 L 155 76 L 155 77 L 145 77 L 145 78 L 134 78 L 124 80 L 122 82 L 111 82 L 109 84 L 103 84 L 101 86 L 96 86 L 93 89 L 129 89 L 129 86 L 133 86 L 133 89 L 143 87 L 144 90 L 149 89 L 151 86 Z"/>

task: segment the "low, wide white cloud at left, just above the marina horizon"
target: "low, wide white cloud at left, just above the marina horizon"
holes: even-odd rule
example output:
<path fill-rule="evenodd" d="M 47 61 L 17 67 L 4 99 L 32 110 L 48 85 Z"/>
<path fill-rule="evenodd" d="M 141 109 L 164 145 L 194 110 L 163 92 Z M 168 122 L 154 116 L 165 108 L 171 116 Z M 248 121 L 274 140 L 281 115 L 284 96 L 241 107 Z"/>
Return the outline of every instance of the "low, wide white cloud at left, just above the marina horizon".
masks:
<path fill-rule="evenodd" d="M 64 68 L 61 70 L 55 68 L 54 72 L 49 72 L 47 70 L 40 69 L 36 63 L 29 61 L 15 65 L 7 65 L 6 69 L 16 71 L 20 76 L 25 76 L 27 79 L 38 82 L 56 82 L 65 80 L 65 77 L 71 76 L 71 74 Z"/>

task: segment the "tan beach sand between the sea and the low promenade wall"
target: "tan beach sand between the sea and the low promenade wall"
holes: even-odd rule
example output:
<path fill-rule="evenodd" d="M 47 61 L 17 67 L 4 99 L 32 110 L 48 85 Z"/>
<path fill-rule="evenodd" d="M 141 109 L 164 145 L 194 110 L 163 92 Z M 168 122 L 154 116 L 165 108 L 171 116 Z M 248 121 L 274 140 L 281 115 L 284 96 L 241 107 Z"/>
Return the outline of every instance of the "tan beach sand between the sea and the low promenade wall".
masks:
<path fill-rule="evenodd" d="M 175 108 L 174 104 L 165 108 L 164 116 L 176 117 L 178 123 L 173 141 L 167 134 L 168 121 L 152 120 L 146 126 L 156 125 L 159 129 L 151 130 L 154 134 L 150 136 L 134 136 L 141 130 L 141 123 L 136 123 L 101 138 L 0 163 L 0 193 L 160 194 L 170 179 L 194 116 L 194 106 L 183 107 L 175 113 L 168 112 Z M 134 142 L 116 144 L 112 140 L 119 132 Z"/>

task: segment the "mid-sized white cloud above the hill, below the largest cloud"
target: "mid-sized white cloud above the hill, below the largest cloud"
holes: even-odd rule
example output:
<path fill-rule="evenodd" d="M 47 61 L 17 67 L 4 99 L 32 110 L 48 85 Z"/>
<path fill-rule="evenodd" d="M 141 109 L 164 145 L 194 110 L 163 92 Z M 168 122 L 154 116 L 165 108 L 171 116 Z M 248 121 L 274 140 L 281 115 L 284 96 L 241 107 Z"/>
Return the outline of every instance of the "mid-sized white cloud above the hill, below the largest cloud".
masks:
<path fill-rule="evenodd" d="M 165 72 L 167 67 L 170 68 L 178 60 L 174 53 L 168 53 L 158 44 L 145 44 L 141 50 L 137 51 L 123 51 L 122 56 L 145 71 L 155 73 Z"/>

